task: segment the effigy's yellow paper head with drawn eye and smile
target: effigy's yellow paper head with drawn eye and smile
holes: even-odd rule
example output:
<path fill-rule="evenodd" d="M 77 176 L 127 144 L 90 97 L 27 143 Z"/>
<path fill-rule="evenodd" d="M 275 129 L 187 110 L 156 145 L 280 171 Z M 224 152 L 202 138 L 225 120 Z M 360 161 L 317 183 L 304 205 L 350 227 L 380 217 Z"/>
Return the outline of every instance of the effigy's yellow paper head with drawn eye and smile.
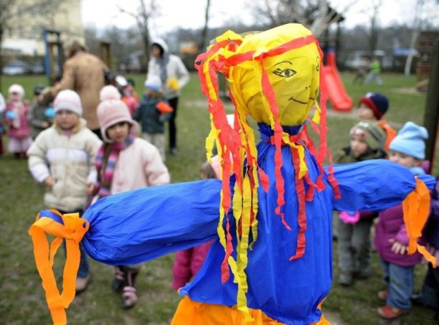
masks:
<path fill-rule="evenodd" d="M 230 91 L 237 100 L 237 109 L 250 113 L 258 122 L 272 125 L 272 112 L 261 86 L 264 69 L 275 94 L 281 125 L 303 123 L 318 96 L 318 46 L 316 43 L 309 43 L 274 56 L 270 54 L 270 50 L 311 35 L 300 24 L 287 24 L 244 36 L 236 53 L 256 51 L 254 58 L 264 52 L 269 53 L 269 56 L 263 58 L 263 68 L 259 60 L 246 60 L 230 69 Z"/>

